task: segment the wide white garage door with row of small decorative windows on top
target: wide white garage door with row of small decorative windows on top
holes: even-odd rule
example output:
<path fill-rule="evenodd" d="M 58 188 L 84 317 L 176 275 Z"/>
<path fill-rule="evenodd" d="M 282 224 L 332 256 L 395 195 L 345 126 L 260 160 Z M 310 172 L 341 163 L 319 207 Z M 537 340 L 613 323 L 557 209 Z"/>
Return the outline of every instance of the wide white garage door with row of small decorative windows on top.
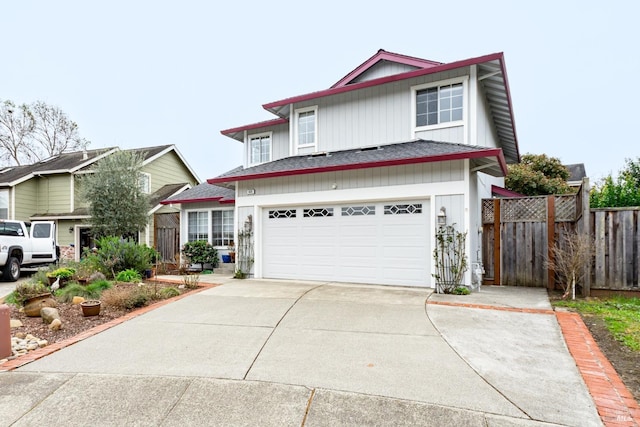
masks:
<path fill-rule="evenodd" d="M 264 209 L 263 277 L 427 286 L 429 204 Z"/>

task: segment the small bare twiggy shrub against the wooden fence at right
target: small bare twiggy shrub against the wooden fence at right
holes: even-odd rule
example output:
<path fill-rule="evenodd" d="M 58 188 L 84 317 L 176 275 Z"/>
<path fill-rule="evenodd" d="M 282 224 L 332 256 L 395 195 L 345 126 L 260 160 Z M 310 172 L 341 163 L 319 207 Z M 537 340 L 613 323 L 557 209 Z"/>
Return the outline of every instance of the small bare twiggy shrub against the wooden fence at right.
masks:
<path fill-rule="evenodd" d="M 576 284 L 589 271 L 594 254 L 593 240 L 588 235 L 573 231 L 556 242 L 551 248 L 551 256 L 546 257 L 547 268 L 554 270 L 561 277 L 560 285 L 564 291 L 562 298 L 576 298 Z"/>

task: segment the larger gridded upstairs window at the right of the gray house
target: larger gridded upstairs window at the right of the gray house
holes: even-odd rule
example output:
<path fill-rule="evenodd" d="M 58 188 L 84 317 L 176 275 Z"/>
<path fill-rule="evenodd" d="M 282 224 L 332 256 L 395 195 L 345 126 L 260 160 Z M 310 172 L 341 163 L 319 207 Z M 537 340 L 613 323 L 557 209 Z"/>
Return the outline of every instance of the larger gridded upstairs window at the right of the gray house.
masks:
<path fill-rule="evenodd" d="M 462 120 L 464 89 L 462 83 L 416 90 L 416 127 Z"/>

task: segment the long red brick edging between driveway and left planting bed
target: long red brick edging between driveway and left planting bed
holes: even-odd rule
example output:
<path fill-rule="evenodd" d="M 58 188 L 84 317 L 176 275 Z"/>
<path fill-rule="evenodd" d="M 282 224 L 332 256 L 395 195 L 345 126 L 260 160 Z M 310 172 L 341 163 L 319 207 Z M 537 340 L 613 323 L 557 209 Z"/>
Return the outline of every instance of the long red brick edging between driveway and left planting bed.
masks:
<path fill-rule="evenodd" d="M 162 282 L 165 283 L 178 283 L 172 280 L 162 280 Z M 86 331 L 75 335 L 73 337 L 67 338 L 66 340 L 60 341 L 60 342 L 56 342 L 53 344 L 49 344 L 46 347 L 42 347 L 39 348 L 37 350 L 33 350 L 28 352 L 27 354 L 23 354 L 20 357 L 16 357 L 13 360 L 9 360 L 7 362 L 4 362 L 2 364 L 0 364 L 0 372 L 6 372 L 6 371 L 13 371 L 14 369 L 17 369 L 23 365 L 26 365 L 27 363 L 31 363 L 34 362 L 40 358 L 43 358 L 45 356 L 48 356 L 49 354 L 55 353 L 58 350 L 61 350 L 65 347 L 69 347 L 79 341 L 82 341 L 86 338 L 92 337 L 102 331 L 106 331 L 107 329 L 113 328 L 116 325 L 119 325 L 123 322 L 126 322 L 127 320 L 133 319 L 134 317 L 138 317 L 141 314 L 147 313 L 151 310 L 155 310 L 156 308 L 162 307 L 164 305 L 167 305 L 169 303 L 172 303 L 174 301 L 178 301 L 184 297 L 187 297 L 189 295 L 193 295 L 195 293 L 198 292 L 202 292 L 206 289 L 209 288 L 213 288 L 218 286 L 217 284 L 200 284 L 198 285 L 198 289 L 194 289 L 191 290 L 189 292 L 185 292 L 184 294 L 178 295 L 176 297 L 173 298 L 168 298 L 162 301 L 158 301 L 156 303 L 153 303 L 151 305 L 145 306 L 145 307 L 141 307 L 135 311 L 132 311 L 130 313 L 125 314 L 124 316 L 118 317 L 116 319 L 113 319 L 109 322 L 103 323 L 101 325 L 97 325 L 94 326 L 91 329 L 87 329 Z"/>

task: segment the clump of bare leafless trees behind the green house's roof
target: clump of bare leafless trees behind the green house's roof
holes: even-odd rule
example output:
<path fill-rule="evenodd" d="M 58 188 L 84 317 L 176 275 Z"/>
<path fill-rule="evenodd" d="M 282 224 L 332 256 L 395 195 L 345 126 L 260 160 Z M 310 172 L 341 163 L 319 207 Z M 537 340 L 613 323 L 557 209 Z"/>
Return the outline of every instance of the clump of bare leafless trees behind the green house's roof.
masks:
<path fill-rule="evenodd" d="M 78 125 L 60 108 L 36 101 L 0 104 L 0 159 L 5 164 L 29 164 L 89 145 Z"/>

